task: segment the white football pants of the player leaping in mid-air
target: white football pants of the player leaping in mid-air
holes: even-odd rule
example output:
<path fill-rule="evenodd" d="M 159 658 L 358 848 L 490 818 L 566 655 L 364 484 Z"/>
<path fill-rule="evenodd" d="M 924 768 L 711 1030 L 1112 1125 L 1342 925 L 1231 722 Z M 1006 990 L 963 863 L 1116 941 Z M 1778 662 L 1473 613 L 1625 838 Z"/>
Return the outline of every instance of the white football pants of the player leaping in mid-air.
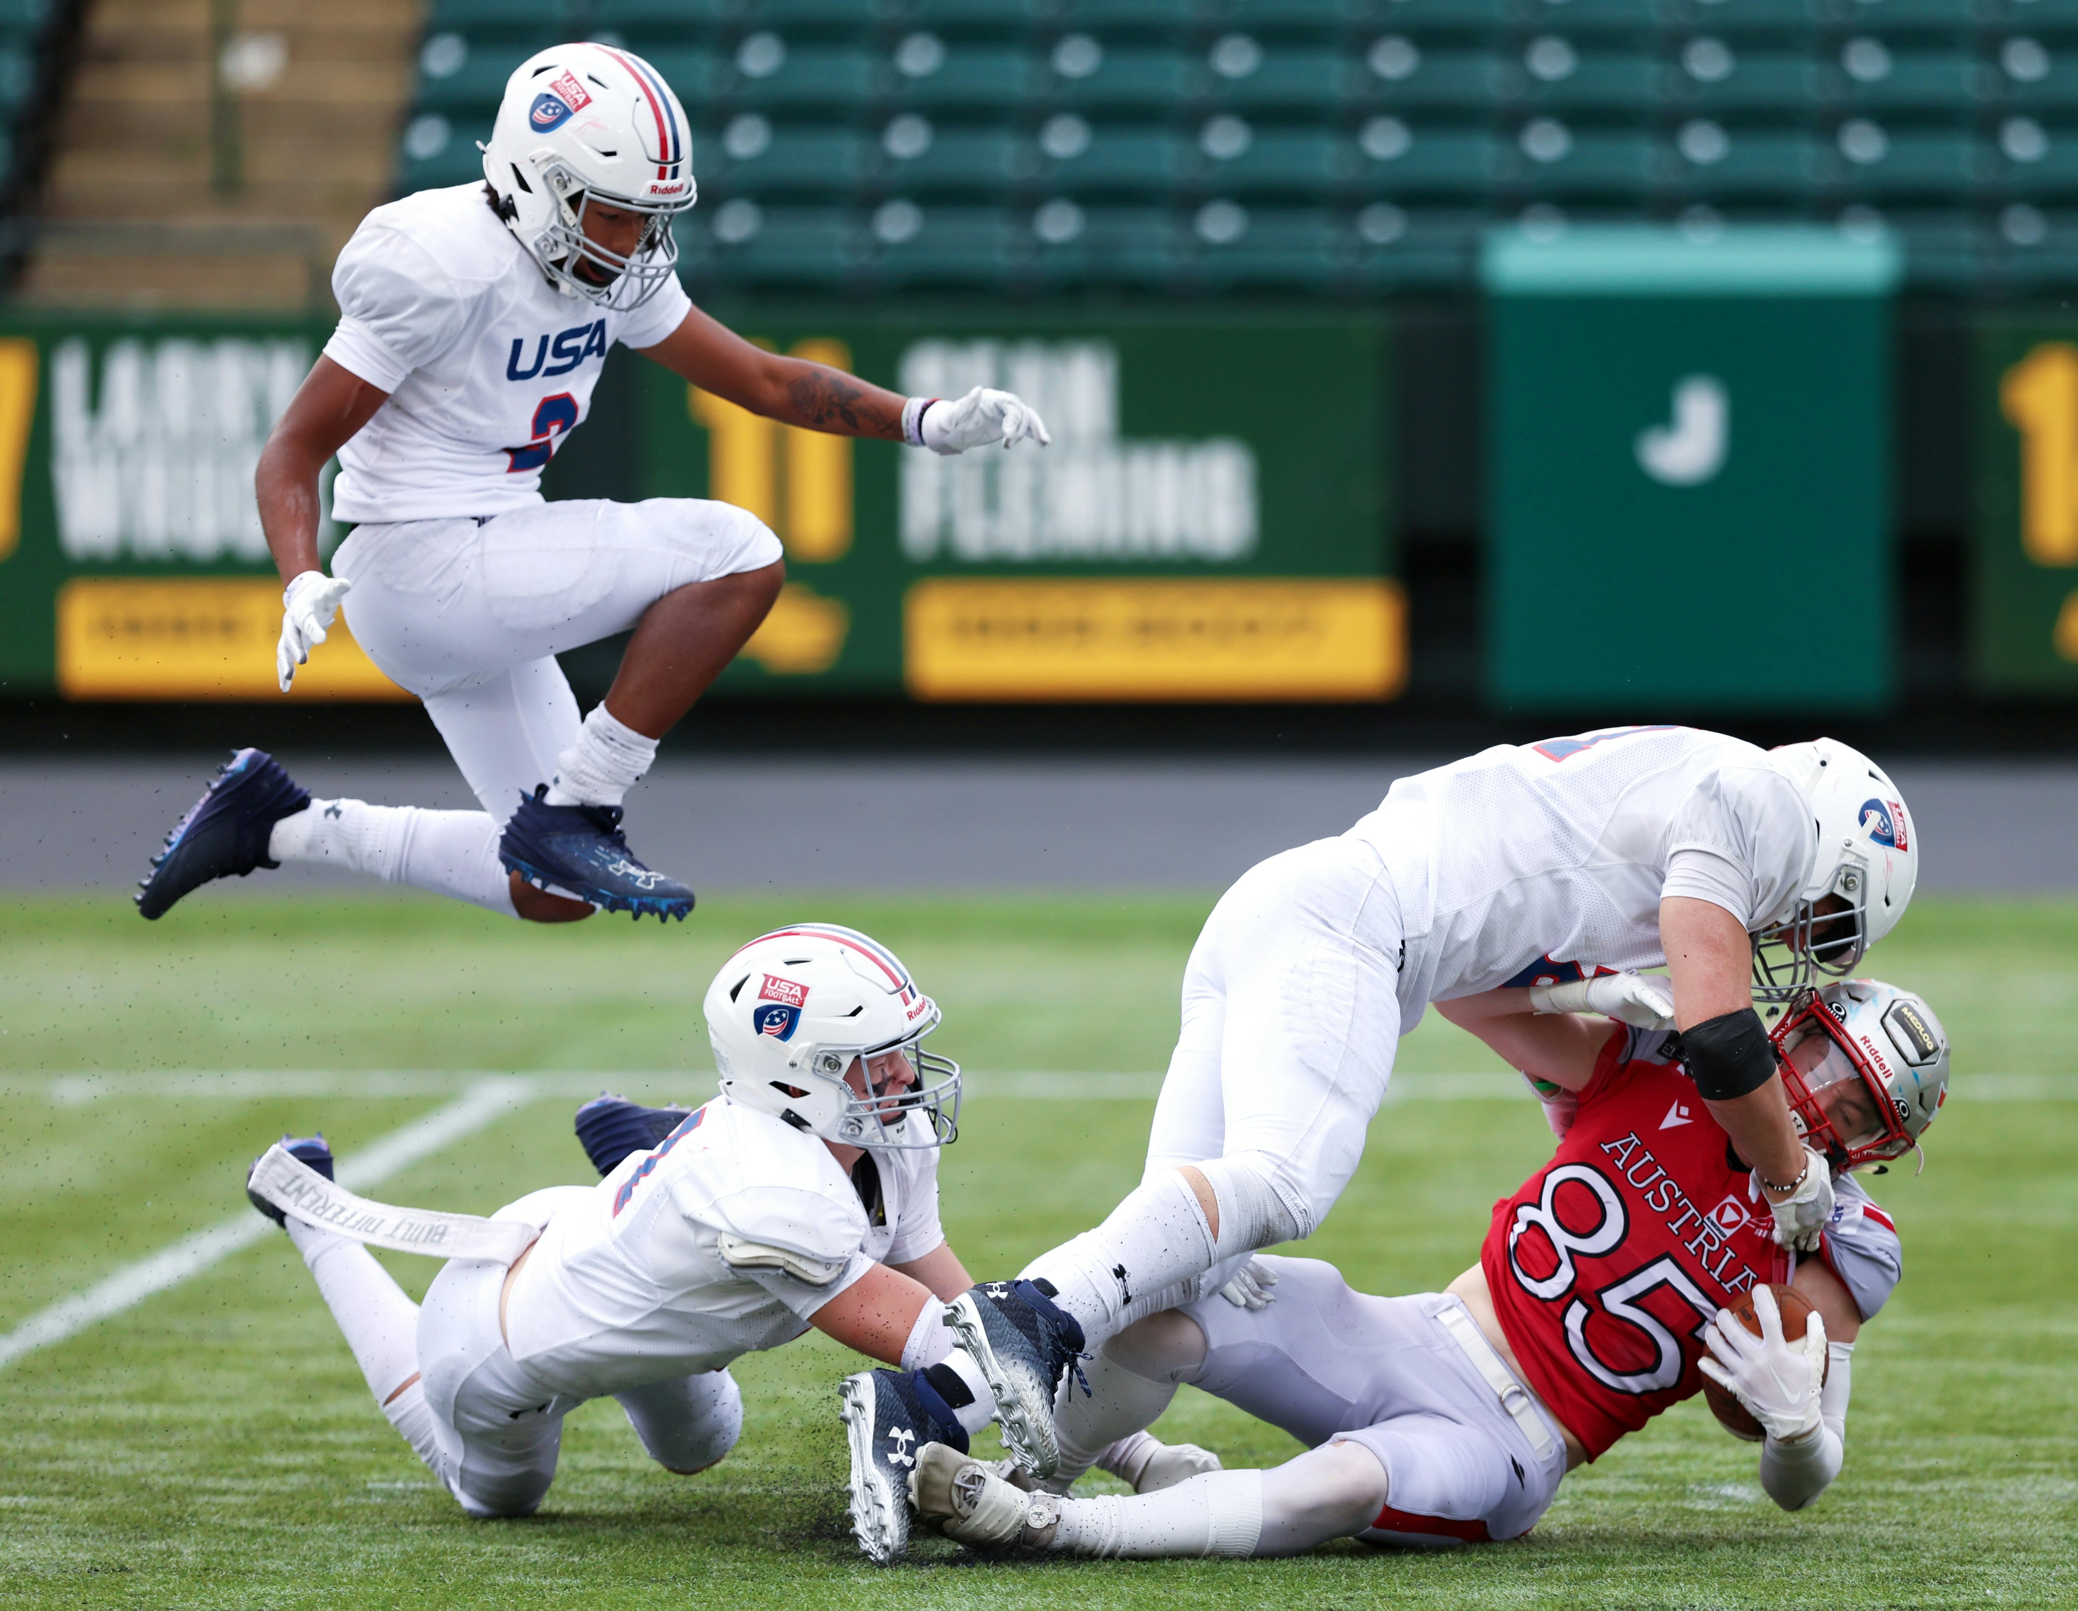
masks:
<path fill-rule="evenodd" d="M 559 653 L 628 632 L 667 592 L 777 559 L 779 538 L 731 503 L 578 499 L 357 526 L 332 574 L 353 582 L 355 642 L 426 703 L 495 831 L 578 738 Z"/>

